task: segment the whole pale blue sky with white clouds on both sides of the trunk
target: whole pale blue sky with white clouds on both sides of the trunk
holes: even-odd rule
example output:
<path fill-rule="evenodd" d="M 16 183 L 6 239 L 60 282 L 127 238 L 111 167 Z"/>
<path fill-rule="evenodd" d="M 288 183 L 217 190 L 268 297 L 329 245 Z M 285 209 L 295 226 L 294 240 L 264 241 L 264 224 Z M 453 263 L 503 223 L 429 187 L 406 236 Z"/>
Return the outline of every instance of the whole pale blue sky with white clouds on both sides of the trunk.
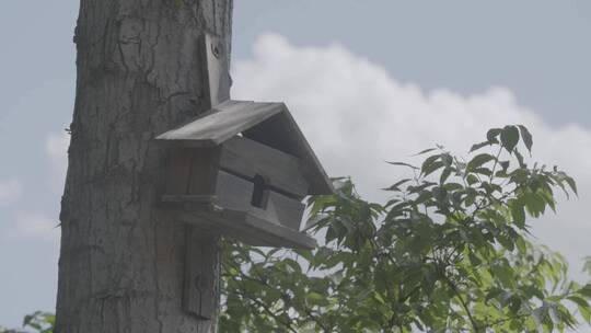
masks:
<path fill-rule="evenodd" d="M 34 10 L 32 10 L 34 9 Z M 55 307 L 77 0 L 0 2 L 0 325 Z M 235 0 L 235 99 L 287 102 L 332 176 L 381 200 L 405 160 L 464 154 L 524 124 L 580 198 L 532 221 L 579 273 L 591 255 L 591 2 Z"/>

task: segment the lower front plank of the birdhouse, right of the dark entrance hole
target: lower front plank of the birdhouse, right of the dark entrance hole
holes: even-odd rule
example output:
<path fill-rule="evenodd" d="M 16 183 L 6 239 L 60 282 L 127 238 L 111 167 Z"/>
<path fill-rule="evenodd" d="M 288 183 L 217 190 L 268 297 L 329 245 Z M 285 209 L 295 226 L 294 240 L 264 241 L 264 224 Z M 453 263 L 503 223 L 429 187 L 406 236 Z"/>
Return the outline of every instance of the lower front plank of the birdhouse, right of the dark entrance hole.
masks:
<path fill-rule="evenodd" d="M 251 214 L 260 219 L 278 222 L 292 230 L 300 231 L 305 206 L 297 199 L 274 191 L 268 191 L 267 195 L 267 207 L 265 209 L 252 207 Z"/>

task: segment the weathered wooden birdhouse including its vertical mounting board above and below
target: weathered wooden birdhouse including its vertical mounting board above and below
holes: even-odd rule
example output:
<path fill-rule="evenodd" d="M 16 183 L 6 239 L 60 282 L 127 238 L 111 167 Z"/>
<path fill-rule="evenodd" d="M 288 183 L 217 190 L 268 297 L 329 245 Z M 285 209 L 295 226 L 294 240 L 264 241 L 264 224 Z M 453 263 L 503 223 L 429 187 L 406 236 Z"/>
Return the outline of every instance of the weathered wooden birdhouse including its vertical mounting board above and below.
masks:
<path fill-rule="evenodd" d="M 230 99 L 228 55 L 220 39 L 201 38 L 207 111 L 159 135 L 167 171 L 161 205 L 189 225 L 183 307 L 199 319 L 216 309 L 216 241 L 312 249 L 300 230 L 308 195 L 332 183 L 283 103 Z M 211 231 L 211 232 L 210 232 Z"/>

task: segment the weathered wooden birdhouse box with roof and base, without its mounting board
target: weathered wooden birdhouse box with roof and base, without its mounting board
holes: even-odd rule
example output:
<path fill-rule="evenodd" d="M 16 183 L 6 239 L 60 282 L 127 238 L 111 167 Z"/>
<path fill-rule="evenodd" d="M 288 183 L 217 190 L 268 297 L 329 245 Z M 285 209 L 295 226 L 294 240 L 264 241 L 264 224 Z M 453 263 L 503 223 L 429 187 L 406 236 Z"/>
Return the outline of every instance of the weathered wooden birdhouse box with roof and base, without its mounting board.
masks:
<path fill-rule="evenodd" d="M 163 203 L 250 244 L 314 246 L 302 199 L 332 185 L 283 103 L 227 101 L 157 139 L 172 146 Z"/>

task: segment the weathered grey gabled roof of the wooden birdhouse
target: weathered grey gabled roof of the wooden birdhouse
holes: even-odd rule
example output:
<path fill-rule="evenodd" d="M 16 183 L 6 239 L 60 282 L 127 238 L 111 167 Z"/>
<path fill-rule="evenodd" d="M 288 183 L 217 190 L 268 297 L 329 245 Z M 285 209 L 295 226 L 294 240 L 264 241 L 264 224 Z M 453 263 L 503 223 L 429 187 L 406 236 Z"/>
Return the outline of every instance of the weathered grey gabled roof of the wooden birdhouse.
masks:
<path fill-rule="evenodd" d="M 225 101 L 193 122 L 158 136 L 157 140 L 213 147 L 239 134 L 298 157 L 310 181 L 310 194 L 334 193 L 324 168 L 283 103 Z"/>

